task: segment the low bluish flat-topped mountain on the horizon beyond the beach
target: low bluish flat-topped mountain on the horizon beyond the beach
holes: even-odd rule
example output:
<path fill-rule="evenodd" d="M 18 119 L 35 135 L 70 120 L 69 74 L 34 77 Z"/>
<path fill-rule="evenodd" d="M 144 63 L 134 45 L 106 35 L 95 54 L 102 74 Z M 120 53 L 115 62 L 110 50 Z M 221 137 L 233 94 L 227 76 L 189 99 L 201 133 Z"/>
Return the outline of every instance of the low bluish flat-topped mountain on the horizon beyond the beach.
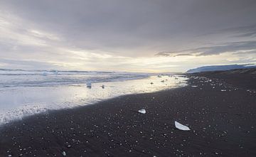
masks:
<path fill-rule="evenodd" d="M 247 69 L 256 67 L 256 65 L 246 64 L 246 65 L 212 65 L 197 67 L 195 69 L 188 70 L 186 73 L 195 73 L 195 72 L 208 72 L 208 71 L 223 71 L 223 70 L 234 70 L 234 69 Z"/>

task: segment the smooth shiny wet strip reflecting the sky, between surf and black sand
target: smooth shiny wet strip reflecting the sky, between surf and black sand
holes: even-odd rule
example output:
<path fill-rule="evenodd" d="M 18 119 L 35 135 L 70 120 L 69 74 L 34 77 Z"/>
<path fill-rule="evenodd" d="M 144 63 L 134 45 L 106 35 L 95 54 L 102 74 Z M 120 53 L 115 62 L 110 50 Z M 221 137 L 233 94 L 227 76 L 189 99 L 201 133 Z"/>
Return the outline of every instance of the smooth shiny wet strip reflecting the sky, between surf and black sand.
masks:
<path fill-rule="evenodd" d="M 0 124 L 48 109 L 83 106 L 123 94 L 156 92 L 183 85 L 186 85 L 185 77 L 151 76 L 139 80 L 98 82 L 93 83 L 91 88 L 85 84 L 6 87 L 0 91 Z"/>

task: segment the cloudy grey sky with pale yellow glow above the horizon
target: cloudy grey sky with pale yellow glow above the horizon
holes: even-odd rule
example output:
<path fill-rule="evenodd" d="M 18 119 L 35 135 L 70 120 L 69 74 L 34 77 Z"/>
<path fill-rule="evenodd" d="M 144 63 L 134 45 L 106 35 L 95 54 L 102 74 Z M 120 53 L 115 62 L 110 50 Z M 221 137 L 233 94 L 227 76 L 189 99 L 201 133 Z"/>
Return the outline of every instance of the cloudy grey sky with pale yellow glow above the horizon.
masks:
<path fill-rule="evenodd" d="M 186 72 L 256 63 L 255 0 L 1 0 L 0 68 Z"/>

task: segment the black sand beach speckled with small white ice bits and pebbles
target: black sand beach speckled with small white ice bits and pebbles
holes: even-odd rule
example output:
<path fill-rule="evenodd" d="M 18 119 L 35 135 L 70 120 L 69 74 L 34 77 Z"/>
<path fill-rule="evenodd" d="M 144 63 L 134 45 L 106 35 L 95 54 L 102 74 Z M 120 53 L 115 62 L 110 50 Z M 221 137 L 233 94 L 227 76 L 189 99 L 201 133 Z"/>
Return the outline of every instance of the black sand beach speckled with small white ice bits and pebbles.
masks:
<path fill-rule="evenodd" d="M 0 156 L 256 156 L 255 71 L 15 121 L 1 128 Z"/>

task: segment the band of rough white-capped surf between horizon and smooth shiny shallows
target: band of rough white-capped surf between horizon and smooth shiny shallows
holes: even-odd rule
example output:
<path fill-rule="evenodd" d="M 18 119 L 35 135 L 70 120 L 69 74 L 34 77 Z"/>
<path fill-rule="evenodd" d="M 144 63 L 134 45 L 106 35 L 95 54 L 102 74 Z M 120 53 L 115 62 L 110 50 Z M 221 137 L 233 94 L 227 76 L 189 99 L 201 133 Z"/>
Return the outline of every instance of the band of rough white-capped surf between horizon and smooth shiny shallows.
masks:
<path fill-rule="evenodd" d="M 149 77 L 146 73 L 58 70 L 0 70 L 0 87 L 45 87 L 114 82 Z"/>

